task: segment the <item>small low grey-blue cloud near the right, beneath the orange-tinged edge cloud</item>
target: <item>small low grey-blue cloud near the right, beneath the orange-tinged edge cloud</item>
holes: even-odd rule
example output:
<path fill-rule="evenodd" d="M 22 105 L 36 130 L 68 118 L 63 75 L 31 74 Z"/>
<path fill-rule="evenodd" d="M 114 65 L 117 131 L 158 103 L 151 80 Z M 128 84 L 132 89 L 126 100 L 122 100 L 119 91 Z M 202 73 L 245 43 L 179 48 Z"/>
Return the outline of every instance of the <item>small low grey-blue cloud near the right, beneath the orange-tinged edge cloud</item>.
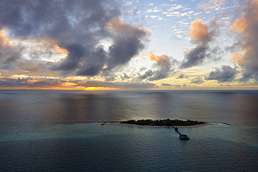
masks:
<path fill-rule="evenodd" d="M 238 72 L 235 68 L 231 68 L 229 65 L 222 65 L 221 70 L 216 68 L 215 71 L 209 73 L 207 80 L 217 80 L 220 82 L 234 81 Z"/>

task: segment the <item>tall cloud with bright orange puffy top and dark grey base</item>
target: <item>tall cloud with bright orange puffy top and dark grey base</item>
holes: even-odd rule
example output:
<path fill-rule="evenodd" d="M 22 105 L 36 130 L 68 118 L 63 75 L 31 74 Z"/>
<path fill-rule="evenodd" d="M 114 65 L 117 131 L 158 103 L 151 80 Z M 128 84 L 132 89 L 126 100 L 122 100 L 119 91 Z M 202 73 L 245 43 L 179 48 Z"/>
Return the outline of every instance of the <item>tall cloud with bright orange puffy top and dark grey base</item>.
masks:
<path fill-rule="evenodd" d="M 215 40 L 219 34 L 219 24 L 217 21 L 210 20 L 209 28 L 202 22 L 202 19 L 195 19 L 191 23 L 190 42 L 196 45 L 195 48 L 185 48 L 184 60 L 181 68 L 191 68 L 196 65 L 202 65 L 206 61 L 217 61 L 218 55 L 222 53 L 220 47 L 211 47 L 210 43 Z"/>

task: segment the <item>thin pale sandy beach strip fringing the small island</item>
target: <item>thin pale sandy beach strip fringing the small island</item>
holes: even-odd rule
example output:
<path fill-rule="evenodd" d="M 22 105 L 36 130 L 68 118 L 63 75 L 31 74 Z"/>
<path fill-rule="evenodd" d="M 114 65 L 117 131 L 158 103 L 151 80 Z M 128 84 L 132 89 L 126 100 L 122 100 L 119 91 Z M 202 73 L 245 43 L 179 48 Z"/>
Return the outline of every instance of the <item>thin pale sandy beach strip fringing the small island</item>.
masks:
<path fill-rule="evenodd" d="M 150 126 L 150 125 L 136 125 L 136 124 L 126 124 L 126 123 L 105 123 L 105 125 L 114 125 L 114 126 L 131 126 L 131 127 L 172 127 L 172 126 Z M 200 125 L 189 125 L 189 126 L 181 126 L 181 125 L 174 125 L 175 127 L 181 128 L 195 128 L 195 127 L 204 127 L 207 125 L 216 125 L 214 123 L 206 123 Z"/>

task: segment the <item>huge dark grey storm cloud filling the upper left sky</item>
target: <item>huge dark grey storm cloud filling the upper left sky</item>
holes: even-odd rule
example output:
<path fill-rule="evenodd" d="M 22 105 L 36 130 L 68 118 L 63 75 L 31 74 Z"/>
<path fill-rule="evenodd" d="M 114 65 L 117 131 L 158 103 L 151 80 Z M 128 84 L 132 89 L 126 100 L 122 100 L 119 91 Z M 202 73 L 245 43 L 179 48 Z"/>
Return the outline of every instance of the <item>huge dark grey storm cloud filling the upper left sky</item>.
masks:
<path fill-rule="evenodd" d="M 121 22 L 121 4 L 112 0 L 1 1 L 0 29 L 20 39 L 50 40 L 68 56 L 51 70 L 66 75 L 98 75 L 128 63 L 151 34 Z M 112 45 L 106 49 L 102 42 Z M 11 59 L 10 59 L 11 60 Z"/>

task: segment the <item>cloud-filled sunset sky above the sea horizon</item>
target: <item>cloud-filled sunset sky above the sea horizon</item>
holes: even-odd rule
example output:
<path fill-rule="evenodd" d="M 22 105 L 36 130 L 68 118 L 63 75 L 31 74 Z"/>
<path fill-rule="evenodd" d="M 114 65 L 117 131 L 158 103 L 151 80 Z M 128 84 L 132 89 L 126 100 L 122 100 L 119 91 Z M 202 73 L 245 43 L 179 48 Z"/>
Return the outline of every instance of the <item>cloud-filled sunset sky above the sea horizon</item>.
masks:
<path fill-rule="evenodd" d="M 257 89 L 258 0 L 0 3 L 0 89 Z"/>

